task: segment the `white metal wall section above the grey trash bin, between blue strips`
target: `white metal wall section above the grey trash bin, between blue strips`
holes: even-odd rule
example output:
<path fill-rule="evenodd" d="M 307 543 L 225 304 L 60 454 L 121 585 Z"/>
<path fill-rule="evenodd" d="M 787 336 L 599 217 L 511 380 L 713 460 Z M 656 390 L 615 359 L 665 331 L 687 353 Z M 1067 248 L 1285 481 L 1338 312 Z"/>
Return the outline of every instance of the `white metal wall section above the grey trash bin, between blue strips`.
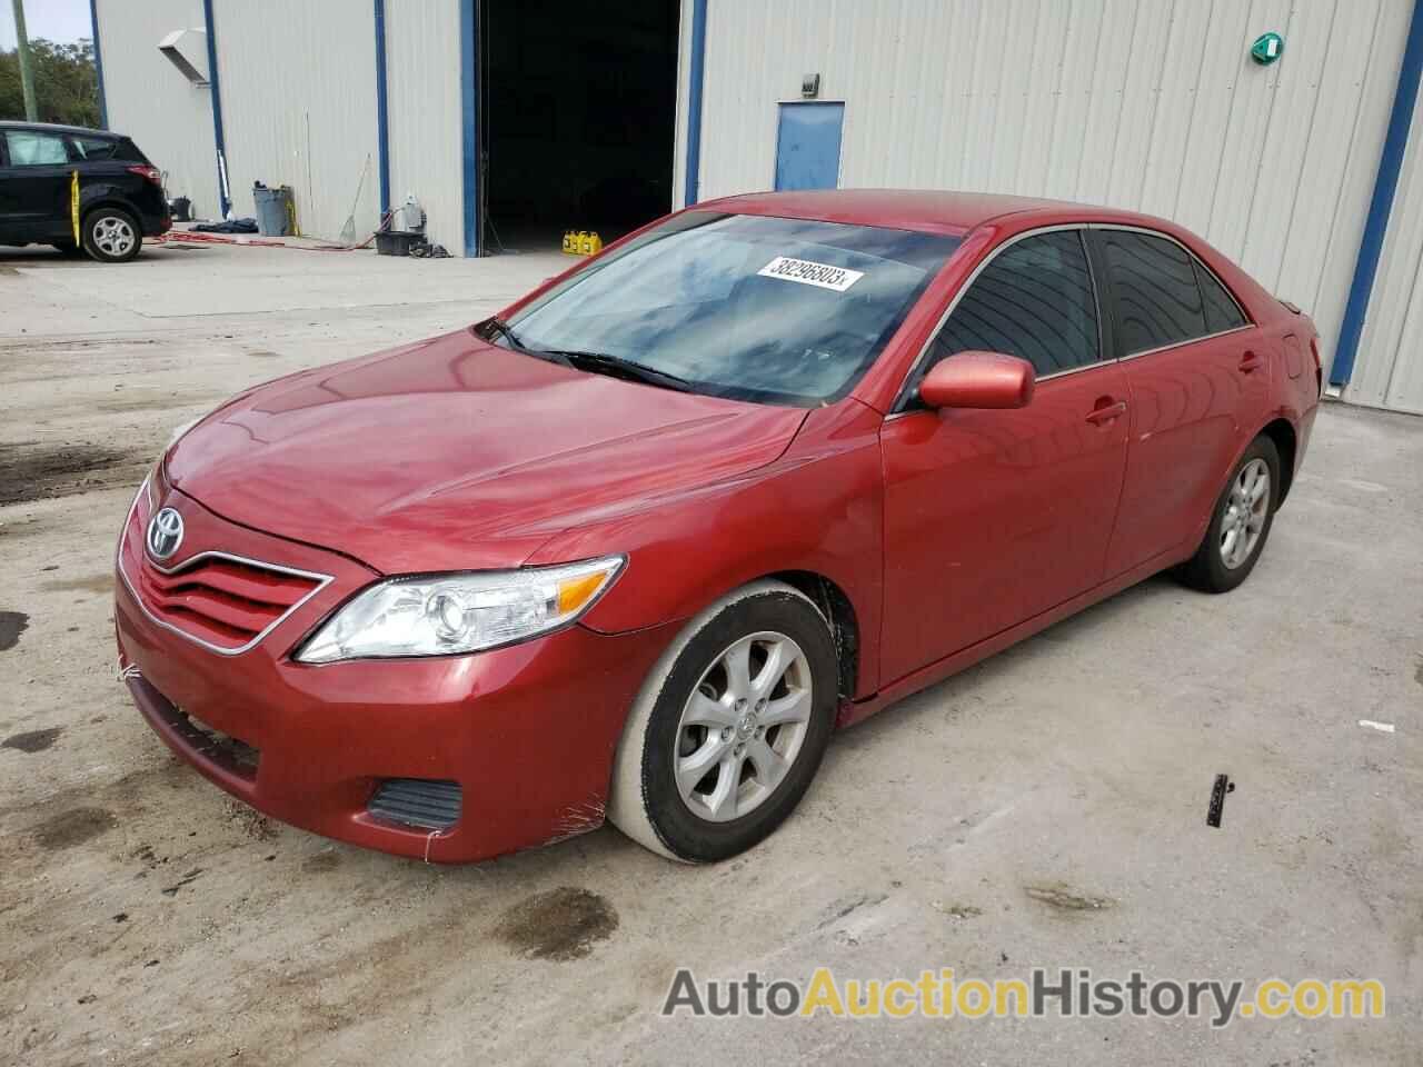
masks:
<path fill-rule="evenodd" d="M 380 216 L 370 1 L 213 7 L 233 211 L 253 213 L 255 181 L 290 185 L 305 235 L 336 239 L 351 213 L 357 239 L 370 235 Z"/>

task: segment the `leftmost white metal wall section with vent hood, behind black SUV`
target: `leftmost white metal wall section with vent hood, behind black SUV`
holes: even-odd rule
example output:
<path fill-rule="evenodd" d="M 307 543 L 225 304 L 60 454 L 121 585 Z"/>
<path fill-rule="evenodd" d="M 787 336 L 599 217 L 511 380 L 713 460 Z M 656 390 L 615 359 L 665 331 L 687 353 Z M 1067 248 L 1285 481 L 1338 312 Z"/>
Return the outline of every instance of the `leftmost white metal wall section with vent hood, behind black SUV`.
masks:
<path fill-rule="evenodd" d="M 110 128 L 166 171 L 171 196 L 188 196 L 195 215 L 215 218 L 212 95 L 158 51 L 174 30 L 202 28 L 202 0 L 98 0 L 97 7 Z"/>

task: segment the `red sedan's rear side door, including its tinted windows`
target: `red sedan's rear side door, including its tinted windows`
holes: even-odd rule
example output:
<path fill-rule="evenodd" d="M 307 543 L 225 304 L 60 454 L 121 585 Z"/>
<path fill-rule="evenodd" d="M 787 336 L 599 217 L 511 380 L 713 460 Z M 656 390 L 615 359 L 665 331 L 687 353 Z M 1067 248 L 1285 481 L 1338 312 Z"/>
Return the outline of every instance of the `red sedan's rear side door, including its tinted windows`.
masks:
<path fill-rule="evenodd" d="M 1094 226 L 1131 390 L 1130 444 L 1107 576 L 1200 535 L 1264 417 L 1274 360 L 1241 304 L 1165 235 Z"/>

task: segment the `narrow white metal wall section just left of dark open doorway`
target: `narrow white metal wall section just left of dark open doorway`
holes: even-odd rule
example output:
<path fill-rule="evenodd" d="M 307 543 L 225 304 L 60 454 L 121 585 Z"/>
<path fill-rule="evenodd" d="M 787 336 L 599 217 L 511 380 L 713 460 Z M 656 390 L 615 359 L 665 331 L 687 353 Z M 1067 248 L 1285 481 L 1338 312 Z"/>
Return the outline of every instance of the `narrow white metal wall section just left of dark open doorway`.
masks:
<path fill-rule="evenodd" d="M 414 193 L 430 240 L 455 256 L 464 255 L 460 87 L 460 0 L 386 0 L 390 202 Z"/>

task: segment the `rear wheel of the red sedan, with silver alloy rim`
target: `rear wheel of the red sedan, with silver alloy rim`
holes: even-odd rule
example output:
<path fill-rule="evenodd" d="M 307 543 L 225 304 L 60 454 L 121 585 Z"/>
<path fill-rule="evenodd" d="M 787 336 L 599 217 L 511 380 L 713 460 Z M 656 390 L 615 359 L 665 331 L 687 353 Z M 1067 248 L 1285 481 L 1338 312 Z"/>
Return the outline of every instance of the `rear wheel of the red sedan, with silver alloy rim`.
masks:
<path fill-rule="evenodd" d="M 1245 499 L 1245 488 L 1257 485 L 1249 481 L 1247 472 L 1258 472 L 1261 464 L 1269 482 L 1264 487 L 1258 504 L 1249 508 L 1247 515 L 1241 511 L 1239 501 Z M 1244 487 L 1242 479 L 1247 482 Z M 1221 489 L 1211 514 L 1211 525 L 1205 528 L 1205 538 L 1195 555 L 1177 569 L 1177 578 L 1204 593 L 1228 593 L 1238 586 L 1255 569 L 1255 562 L 1269 539 L 1278 505 L 1279 452 L 1268 437 L 1257 437 L 1235 464 L 1231 477 L 1225 479 L 1225 488 Z M 1237 538 L 1245 538 L 1244 545 L 1228 539 L 1232 528 Z"/>

